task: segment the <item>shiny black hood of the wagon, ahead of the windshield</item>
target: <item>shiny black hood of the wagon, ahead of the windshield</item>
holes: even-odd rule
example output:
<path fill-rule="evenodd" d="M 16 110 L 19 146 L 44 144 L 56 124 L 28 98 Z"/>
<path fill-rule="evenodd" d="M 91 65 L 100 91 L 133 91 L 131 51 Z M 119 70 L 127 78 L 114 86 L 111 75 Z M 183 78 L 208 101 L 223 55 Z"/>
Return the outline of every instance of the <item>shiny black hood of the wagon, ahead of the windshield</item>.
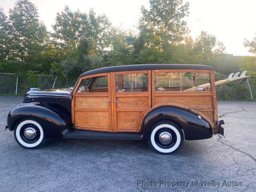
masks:
<path fill-rule="evenodd" d="M 70 96 L 70 90 L 68 89 L 49 89 L 49 90 L 30 90 L 26 93 L 29 95 L 43 95 L 43 96 Z"/>

